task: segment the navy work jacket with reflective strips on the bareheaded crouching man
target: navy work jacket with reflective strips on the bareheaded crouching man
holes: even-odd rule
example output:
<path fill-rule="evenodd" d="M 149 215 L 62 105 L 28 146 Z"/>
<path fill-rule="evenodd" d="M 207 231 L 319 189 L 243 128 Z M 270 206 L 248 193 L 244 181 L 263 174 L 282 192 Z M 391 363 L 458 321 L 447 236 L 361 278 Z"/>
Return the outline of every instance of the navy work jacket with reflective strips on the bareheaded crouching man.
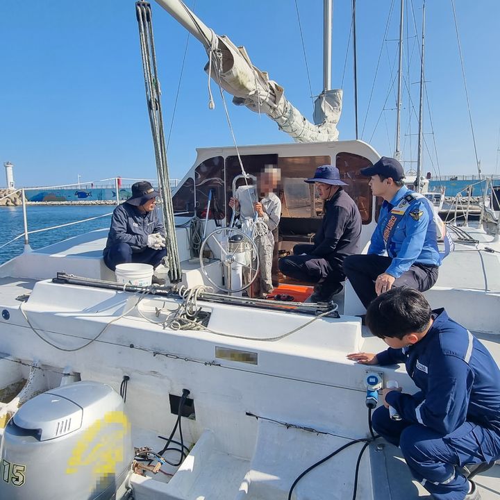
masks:
<path fill-rule="evenodd" d="M 380 365 L 406 363 L 416 394 L 392 391 L 386 401 L 408 422 L 447 435 L 464 422 L 500 433 L 500 369 L 472 333 L 435 310 L 428 333 L 416 344 L 377 354 Z"/>

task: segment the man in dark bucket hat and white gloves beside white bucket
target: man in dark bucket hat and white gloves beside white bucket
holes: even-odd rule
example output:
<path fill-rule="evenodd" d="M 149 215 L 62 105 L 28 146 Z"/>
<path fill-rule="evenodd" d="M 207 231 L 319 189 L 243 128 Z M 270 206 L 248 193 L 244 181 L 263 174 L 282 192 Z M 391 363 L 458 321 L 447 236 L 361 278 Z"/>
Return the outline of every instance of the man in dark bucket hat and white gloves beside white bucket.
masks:
<path fill-rule="evenodd" d="M 149 182 L 140 181 L 132 185 L 132 197 L 115 208 L 103 250 L 104 263 L 112 271 L 125 263 L 156 267 L 167 255 L 165 228 L 156 213 L 158 196 Z"/>

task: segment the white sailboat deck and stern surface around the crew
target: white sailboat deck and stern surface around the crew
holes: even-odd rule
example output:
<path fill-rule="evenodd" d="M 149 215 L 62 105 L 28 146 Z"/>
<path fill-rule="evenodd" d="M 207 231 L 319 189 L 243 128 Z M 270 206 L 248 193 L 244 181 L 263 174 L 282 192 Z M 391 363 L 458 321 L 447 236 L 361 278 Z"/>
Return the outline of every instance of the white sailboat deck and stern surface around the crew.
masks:
<path fill-rule="evenodd" d="M 385 344 L 353 317 L 358 306 L 349 303 L 349 287 L 339 297 L 340 319 L 318 319 L 277 342 L 265 338 L 291 331 L 310 317 L 200 301 L 212 312 L 210 329 L 253 340 L 169 331 L 151 322 L 158 304 L 164 310 L 176 307 L 172 299 L 160 297 L 142 300 L 142 315 L 150 321 L 134 310 L 82 351 L 62 353 L 42 342 L 20 315 L 21 304 L 39 333 L 57 344 L 78 346 L 137 300 L 128 292 L 51 283 L 61 271 L 110 279 L 101 260 L 104 236 L 95 231 L 24 253 L 0 267 L 0 309 L 10 313 L 0 324 L 0 351 L 5 359 L 15 356 L 26 365 L 38 360 L 61 372 L 69 366 L 82 379 L 103 381 L 115 390 L 122 374 L 131 374 L 127 409 L 136 446 L 158 447 L 156 435 L 166 433 L 174 418 L 165 395 L 190 388 L 197 415 L 185 423 L 185 439 L 196 444 L 168 483 L 134 474 L 136 499 L 284 499 L 304 469 L 349 440 L 367 436 L 366 367 L 346 355 L 381 351 Z M 498 363 L 500 253 L 484 250 L 498 250 L 498 244 L 481 238 L 486 244 L 457 245 L 427 295 L 434 307 L 444 306 L 481 338 Z M 186 267 L 185 281 L 199 284 L 197 266 Z M 24 294 L 31 294 L 26 303 L 17 299 Z M 342 315 L 346 310 L 349 316 Z M 217 358 L 215 347 L 255 353 L 258 362 Z M 411 392 L 403 367 L 381 371 Z M 153 411 L 145 413 L 144 408 Z M 358 444 L 317 467 L 297 485 L 296 498 L 350 498 L 359 449 Z M 429 498 L 411 480 L 398 449 L 377 441 L 369 450 L 361 462 L 358 499 Z M 476 478 L 483 499 L 500 499 L 499 478 L 498 465 Z"/>

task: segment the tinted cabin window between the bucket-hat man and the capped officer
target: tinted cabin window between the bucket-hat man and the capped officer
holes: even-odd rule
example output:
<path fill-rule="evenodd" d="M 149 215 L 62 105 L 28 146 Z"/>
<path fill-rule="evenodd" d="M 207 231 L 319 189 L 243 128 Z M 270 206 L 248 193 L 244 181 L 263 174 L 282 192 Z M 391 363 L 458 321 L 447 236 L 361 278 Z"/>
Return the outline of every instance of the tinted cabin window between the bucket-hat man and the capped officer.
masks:
<path fill-rule="evenodd" d="M 344 190 L 356 201 L 363 224 L 372 222 L 373 196 L 368 185 L 370 178 L 360 174 L 360 169 L 369 165 L 372 165 L 370 160 L 353 153 L 338 153 L 335 158 L 340 178 L 347 184 Z"/>

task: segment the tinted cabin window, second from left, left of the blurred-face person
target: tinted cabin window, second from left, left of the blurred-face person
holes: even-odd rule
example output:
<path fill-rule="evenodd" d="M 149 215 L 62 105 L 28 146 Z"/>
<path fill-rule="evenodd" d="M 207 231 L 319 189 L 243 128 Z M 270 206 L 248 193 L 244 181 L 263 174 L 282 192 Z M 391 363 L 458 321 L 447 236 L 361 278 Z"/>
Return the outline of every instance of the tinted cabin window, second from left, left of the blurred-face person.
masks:
<path fill-rule="evenodd" d="M 200 163 L 194 170 L 194 184 L 196 187 L 196 214 L 201 219 L 206 217 L 208 193 L 212 191 L 209 219 L 224 219 L 226 217 L 224 194 L 224 158 L 215 156 Z"/>

